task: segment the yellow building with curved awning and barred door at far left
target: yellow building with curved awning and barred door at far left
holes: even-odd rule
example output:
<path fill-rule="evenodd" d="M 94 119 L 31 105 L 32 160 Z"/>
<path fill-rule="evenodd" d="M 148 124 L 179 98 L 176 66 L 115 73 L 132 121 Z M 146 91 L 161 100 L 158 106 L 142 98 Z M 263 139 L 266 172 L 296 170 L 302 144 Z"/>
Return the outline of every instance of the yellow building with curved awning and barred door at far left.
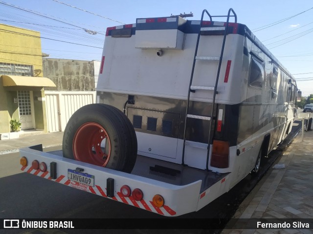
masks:
<path fill-rule="evenodd" d="M 11 119 L 47 132 L 45 87 L 56 85 L 43 74 L 40 33 L 0 24 L 0 133 Z"/>

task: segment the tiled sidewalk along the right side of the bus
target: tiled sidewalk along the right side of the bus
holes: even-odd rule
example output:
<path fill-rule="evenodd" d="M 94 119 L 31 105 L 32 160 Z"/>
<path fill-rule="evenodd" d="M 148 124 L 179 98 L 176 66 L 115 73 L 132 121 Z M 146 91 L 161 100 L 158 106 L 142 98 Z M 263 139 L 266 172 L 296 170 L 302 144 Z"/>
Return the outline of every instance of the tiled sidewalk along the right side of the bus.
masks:
<path fill-rule="evenodd" d="M 302 132 L 278 158 L 275 164 L 283 169 L 271 169 L 261 187 L 256 186 L 237 209 L 233 218 L 280 218 L 313 220 L 313 131 Z M 261 181 L 262 181 L 261 179 Z M 260 181 L 260 182 L 261 182 Z M 259 182 L 259 183 L 260 183 Z M 262 220 L 261 220 L 262 221 Z M 293 220 L 299 221 L 299 220 Z M 312 228 L 312 227 L 311 227 Z M 312 229 L 227 229 L 222 234 L 313 234 Z"/>

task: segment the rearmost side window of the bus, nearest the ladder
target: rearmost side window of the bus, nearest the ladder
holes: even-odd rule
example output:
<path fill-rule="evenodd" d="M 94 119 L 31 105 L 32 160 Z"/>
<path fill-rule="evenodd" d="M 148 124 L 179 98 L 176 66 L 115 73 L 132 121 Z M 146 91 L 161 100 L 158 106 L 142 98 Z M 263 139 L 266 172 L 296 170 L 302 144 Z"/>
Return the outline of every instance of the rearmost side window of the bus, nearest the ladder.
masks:
<path fill-rule="evenodd" d="M 249 85 L 257 88 L 262 88 L 264 78 L 263 62 L 259 59 L 251 57 Z"/>

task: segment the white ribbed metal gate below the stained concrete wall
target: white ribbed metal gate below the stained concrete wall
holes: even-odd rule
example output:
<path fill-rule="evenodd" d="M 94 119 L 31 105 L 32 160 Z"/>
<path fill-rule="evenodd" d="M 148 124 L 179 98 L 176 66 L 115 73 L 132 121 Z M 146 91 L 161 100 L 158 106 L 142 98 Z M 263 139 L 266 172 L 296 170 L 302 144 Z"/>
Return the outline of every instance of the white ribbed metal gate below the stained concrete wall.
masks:
<path fill-rule="evenodd" d="M 82 106 L 95 103 L 96 92 L 45 91 L 48 132 L 64 131 L 69 118 Z"/>

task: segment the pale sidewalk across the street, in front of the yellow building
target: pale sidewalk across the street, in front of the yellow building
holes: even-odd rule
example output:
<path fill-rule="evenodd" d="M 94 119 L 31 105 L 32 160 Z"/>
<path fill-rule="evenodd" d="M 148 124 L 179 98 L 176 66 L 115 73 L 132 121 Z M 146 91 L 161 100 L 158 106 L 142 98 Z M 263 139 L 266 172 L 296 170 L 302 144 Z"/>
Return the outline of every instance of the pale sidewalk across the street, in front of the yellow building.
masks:
<path fill-rule="evenodd" d="M 0 140 L 0 155 L 17 153 L 20 148 L 42 144 L 43 148 L 62 145 L 63 132 L 24 132 L 17 139 Z"/>

